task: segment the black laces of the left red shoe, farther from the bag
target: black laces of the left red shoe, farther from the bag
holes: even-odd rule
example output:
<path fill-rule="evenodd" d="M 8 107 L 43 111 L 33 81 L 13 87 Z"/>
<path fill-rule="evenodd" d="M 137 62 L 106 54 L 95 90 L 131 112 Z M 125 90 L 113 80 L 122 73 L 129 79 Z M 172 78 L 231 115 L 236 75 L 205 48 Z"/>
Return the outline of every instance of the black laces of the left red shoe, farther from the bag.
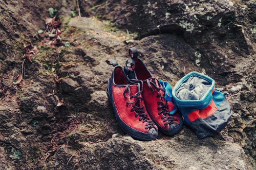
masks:
<path fill-rule="evenodd" d="M 136 113 L 135 118 L 137 118 L 139 116 L 140 117 L 139 121 L 143 120 L 143 123 L 145 121 L 147 122 L 145 129 L 155 128 L 154 122 L 149 120 L 148 115 L 145 113 L 144 106 L 140 106 L 140 103 L 143 100 L 143 98 L 140 96 L 141 92 L 143 91 L 143 82 L 140 80 L 131 79 L 129 81 L 129 83 L 138 85 L 138 92 L 135 95 L 130 96 L 130 89 L 129 89 L 130 85 L 126 85 L 124 93 L 123 93 L 123 95 L 126 99 L 127 99 L 127 96 L 126 96 L 127 91 L 129 93 L 130 99 L 133 99 L 133 98 L 135 99 L 133 102 L 126 102 L 127 105 L 131 104 L 131 106 L 132 106 L 132 109 L 130 111 L 131 112 L 135 111 L 135 113 Z"/>

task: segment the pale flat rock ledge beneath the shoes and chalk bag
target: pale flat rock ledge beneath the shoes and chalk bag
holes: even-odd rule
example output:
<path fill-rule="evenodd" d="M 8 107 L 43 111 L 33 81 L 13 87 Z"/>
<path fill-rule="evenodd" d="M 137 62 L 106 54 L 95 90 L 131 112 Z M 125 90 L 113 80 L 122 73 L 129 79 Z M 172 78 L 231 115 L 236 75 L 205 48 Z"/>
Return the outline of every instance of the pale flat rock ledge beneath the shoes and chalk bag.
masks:
<path fill-rule="evenodd" d="M 63 147 L 54 158 L 67 158 Z M 246 170 L 243 149 L 234 143 L 207 138 L 199 140 L 189 130 L 171 139 L 142 142 L 114 134 L 107 142 L 90 145 L 80 152 L 79 170 Z M 60 169 L 72 167 L 60 164 Z M 207 163 L 206 163 L 207 162 Z M 49 162 L 54 165 L 54 162 Z M 51 167 L 51 166 L 50 166 Z M 90 167 L 90 168 L 88 168 Z"/>

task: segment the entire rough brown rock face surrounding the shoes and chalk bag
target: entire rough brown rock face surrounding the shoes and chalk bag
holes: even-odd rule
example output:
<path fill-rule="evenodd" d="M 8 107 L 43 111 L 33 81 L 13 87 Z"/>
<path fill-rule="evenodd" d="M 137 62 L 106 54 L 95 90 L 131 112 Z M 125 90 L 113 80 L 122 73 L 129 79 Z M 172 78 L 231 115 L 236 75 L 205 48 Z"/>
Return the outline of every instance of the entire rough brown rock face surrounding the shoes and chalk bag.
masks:
<path fill-rule="evenodd" d="M 255 1 L 79 4 L 85 17 L 70 18 L 77 8 L 71 1 L 0 0 L 0 169 L 256 167 Z M 49 7 L 57 8 L 63 21 L 56 48 L 32 37 L 44 28 Z M 31 41 L 39 53 L 26 63 L 22 85 L 13 85 L 23 43 Z M 199 140 L 186 126 L 177 136 L 159 134 L 150 142 L 125 136 L 107 102 L 112 68 L 105 60 L 124 65 L 133 46 L 152 73 L 172 86 L 195 70 L 232 94 L 234 114 L 219 136 Z"/>

